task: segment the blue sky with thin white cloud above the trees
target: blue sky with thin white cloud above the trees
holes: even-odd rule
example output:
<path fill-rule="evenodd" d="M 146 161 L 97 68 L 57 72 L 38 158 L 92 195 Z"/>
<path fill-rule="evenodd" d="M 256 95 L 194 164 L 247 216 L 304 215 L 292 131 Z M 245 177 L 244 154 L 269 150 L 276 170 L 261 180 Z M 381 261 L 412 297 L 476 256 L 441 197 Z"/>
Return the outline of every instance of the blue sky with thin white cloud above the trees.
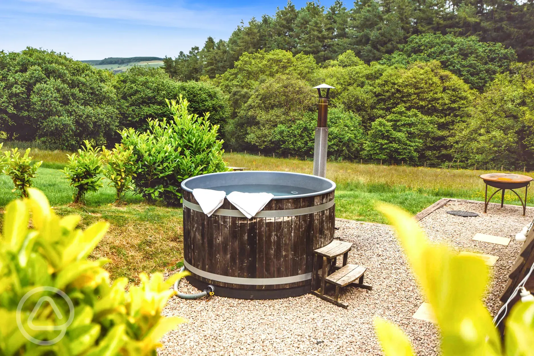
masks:
<path fill-rule="evenodd" d="M 274 14 L 287 0 L 0 0 L 0 50 L 26 46 L 66 52 L 76 60 L 175 57 L 227 39 L 241 20 Z M 301 7 L 305 1 L 294 1 Z M 325 5 L 327 5 L 325 3 Z"/>

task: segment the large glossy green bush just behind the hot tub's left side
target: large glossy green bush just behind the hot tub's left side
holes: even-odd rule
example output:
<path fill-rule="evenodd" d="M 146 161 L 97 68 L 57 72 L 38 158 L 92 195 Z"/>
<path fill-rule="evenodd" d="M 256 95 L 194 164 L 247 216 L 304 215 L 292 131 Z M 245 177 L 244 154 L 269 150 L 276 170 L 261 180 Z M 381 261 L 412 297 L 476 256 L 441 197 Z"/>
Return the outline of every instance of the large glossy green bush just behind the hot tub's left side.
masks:
<path fill-rule="evenodd" d="M 163 199 L 179 204 L 180 184 L 184 179 L 227 170 L 223 161 L 222 140 L 217 140 L 219 125 L 204 116 L 190 114 L 189 102 L 180 94 L 178 101 L 167 101 L 173 118 L 148 121 L 148 130 L 124 129 L 122 144 L 132 147 L 136 156 L 136 191 L 148 200 Z"/>

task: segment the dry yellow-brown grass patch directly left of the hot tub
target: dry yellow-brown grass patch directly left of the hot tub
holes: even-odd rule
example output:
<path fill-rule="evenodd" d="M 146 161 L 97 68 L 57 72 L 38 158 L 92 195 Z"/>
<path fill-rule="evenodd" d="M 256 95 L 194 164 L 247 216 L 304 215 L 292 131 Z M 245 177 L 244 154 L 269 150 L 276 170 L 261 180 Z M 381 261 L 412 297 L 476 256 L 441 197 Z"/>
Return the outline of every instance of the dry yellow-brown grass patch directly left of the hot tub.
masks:
<path fill-rule="evenodd" d="M 182 209 L 129 204 L 124 207 L 57 207 L 59 215 L 77 213 L 81 228 L 99 220 L 109 223 L 109 230 L 90 258 L 105 257 L 105 266 L 113 278 L 135 280 L 140 272 L 152 273 L 174 268 L 183 258 Z"/>

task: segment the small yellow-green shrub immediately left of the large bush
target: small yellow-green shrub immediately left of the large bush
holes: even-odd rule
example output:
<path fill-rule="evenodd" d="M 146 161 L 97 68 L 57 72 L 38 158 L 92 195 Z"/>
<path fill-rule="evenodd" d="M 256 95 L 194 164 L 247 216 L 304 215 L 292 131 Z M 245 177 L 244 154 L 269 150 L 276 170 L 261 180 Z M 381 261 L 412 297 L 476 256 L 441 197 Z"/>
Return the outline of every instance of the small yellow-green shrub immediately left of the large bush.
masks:
<path fill-rule="evenodd" d="M 125 190 L 133 190 L 132 178 L 135 173 L 135 156 L 132 147 L 116 144 L 111 151 L 102 148 L 102 156 L 106 163 L 104 176 L 109 179 L 108 185 L 117 191 L 116 202 L 121 202 Z"/>

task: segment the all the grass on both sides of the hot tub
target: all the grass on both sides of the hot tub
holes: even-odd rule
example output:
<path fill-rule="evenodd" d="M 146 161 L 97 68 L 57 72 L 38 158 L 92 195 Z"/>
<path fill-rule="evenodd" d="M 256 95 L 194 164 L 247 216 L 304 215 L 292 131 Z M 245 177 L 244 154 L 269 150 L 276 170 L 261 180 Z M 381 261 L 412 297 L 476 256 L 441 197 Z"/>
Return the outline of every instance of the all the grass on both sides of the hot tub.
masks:
<path fill-rule="evenodd" d="M 78 213 L 83 228 L 104 219 L 110 228 L 98 244 L 92 258 L 106 257 L 113 278 L 126 276 L 135 280 L 140 272 L 175 268 L 182 259 L 182 209 L 148 205 L 142 197 L 127 193 L 125 204 L 114 205 L 115 191 L 107 186 L 85 197 L 85 205 L 72 204 L 73 189 L 58 168 L 64 167 L 66 153 L 33 150 L 38 169 L 34 186 L 41 189 L 59 215 Z M 243 154 L 225 154 L 234 167 L 252 170 L 278 170 L 311 174 L 313 163 L 295 159 L 273 159 Z M 442 197 L 483 200 L 482 171 L 444 170 L 380 166 L 371 164 L 331 163 L 327 177 L 336 182 L 336 216 L 345 219 L 387 223 L 376 211 L 377 202 L 388 202 L 415 214 Z M 530 174 L 530 173 L 527 173 Z M 0 176 L 0 206 L 15 199 L 9 177 Z M 532 205 L 534 189 L 529 193 Z M 497 200 L 494 200 L 497 201 Z M 515 195 L 506 194 L 508 204 L 519 204 Z"/>

